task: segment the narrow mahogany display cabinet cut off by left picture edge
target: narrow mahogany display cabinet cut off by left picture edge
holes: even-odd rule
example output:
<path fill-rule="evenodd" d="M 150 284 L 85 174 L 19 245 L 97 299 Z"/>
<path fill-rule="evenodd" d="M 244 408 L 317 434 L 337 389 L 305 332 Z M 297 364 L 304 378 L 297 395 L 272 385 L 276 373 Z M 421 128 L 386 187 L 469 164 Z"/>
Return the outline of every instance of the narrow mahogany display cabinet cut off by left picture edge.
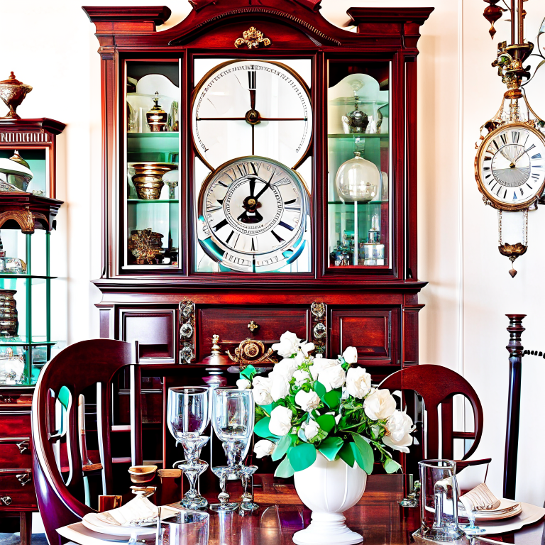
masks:
<path fill-rule="evenodd" d="M 31 543 L 38 511 L 32 396 L 57 344 L 50 233 L 62 204 L 55 199 L 55 145 L 64 128 L 53 119 L 0 119 L 0 531 L 19 517 L 23 545 Z"/>

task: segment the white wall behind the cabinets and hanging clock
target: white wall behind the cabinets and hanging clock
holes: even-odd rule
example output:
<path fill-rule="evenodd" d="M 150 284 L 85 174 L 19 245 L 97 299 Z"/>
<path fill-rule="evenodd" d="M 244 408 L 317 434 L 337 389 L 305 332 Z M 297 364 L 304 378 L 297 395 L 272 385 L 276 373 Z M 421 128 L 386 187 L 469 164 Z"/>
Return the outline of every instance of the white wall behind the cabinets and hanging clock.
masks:
<path fill-rule="evenodd" d="M 108 5 L 93 0 L 93 5 Z M 149 0 L 117 0 L 116 5 L 148 5 Z M 152 3 L 153 4 L 153 3 Z M 165 1 L 165 4 L 169 2 Z M 420 314 L 422 363 L 440 363 L 466 375 L 485 408 L 479 456 L 492 456 L 488 483 L 501 492 L 507 407 L 506 312 L 529 316 L 524 344 L 545 348 L 539 335 L 544 290 L 541 270 L 545 241 L 543 212 L 530 214 L 529 251 L 517 261 L 519 274 L 497 252 L 495 212 L 485 208 L 473 175 L 479 126 L 500 105 L 503 87 L 490 67 L 496 43 L 508 39 L 508 24 L 498 23 L 490 40 L 485 6 L 475 0 L 323 0 L 321 13 L 338 26 L 348 23 L 350 6 L 435 6 L 419 41 L 419 277 L 429 280 Z M 526 6 L 527 35 L 533 38 L 545 9 Z M 60 138 L 57 260 L 67 287 L 60 292 L 55 327 L 58 338 L 73 343 L 98 336 L 94 303 L 99 291 L 89 282 L 100 275 L 101 117 L 98 42 L 76 0 L 2 2 L 0 79 L 10 70 L 33 85 L 19 111 L 24 117 L 48 116 L 67 123 Z M 171 2 L 173 26 L 189 4 Z M 540 11 L 541 10 L 541 11 Z M 534 109 L 545 116 L 539 81 L 529 88 Z M 62 322 L 63 311 L 67 323 Z M 541 401 L 545 365 L 524 359 L 522 438 L 517 497 L 542 505 L 545 426 L 534 416 Z"/>

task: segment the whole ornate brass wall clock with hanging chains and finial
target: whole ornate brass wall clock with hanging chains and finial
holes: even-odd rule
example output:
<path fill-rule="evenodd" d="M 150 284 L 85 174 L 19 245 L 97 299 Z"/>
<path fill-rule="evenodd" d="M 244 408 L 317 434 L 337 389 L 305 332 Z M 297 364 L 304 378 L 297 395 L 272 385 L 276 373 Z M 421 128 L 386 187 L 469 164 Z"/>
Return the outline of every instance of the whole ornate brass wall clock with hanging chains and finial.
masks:
<path fill-rule="evenodd" d="M 495 6 L 497 1 L 488 1 L 485 18 L 492 23 L 490 35 L 494 35 L 493 23 L 501 17 L 502 11 Z M 545 121 L 535 114 L 529 105 L 523 86 L 530 79 L 530 67 L 523 62 L 531 56 L 534 44 L 524 40 L 523 0 L 511 0 L 511 45 L 498 45 L 497 58 L 492 66 L 507 85 L 502 104 L 492 119 L 480 128 L 480 142 L 475 157 L 475 179 L 483 194 L 483 201 L 498 211 L 498 249 L 514 263 L 528 248 L 528 211 L 536 209 L 543 198 L 545 189 Z M 493 13 L 492 13 L 493 11 Z M 545 31 L 538 35 L 539 37 Z M 538 48 L 539 49 L 539 48 Z M 541 66 L 537 66 L 536 70 Z M 535 74 L 535 72 L 534 72 Z M 527 79 L 527 82 L 522 82 Z M 507 107 L 506 107 L 507 105 Z M 507 243 L 502 240 L 502 213 L 522 211 L 522 241 Z M 510 275 L 517 271 L 513 265 Z"/>

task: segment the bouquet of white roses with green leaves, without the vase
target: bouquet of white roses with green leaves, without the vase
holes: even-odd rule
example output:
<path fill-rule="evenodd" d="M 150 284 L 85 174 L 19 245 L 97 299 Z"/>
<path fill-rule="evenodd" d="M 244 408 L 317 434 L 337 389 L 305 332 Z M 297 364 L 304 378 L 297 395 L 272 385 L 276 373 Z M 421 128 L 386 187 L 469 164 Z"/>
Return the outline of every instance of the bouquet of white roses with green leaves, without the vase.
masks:
<path fill-rule="evenodd" d="M 365 473 L 379 461 L 387 473 L 400 469 L 387 448 L 409 452 L 412 419 L 396 409 L 388 390 L 371 386 L 356 348 L 349 346 L 338 359 L 313 357 L 313 343 L 301 342 L 290 331 L 272 348 L 282 356 L 268 377 L 255 368 L 241 372 L 239 388 L 252 388 L 255 400 L 254 432 L 262 437 L 254 451 L 258 458 L 281 460 L 275 477 L 291 477 L 316 461 L 341 458 Z"/>

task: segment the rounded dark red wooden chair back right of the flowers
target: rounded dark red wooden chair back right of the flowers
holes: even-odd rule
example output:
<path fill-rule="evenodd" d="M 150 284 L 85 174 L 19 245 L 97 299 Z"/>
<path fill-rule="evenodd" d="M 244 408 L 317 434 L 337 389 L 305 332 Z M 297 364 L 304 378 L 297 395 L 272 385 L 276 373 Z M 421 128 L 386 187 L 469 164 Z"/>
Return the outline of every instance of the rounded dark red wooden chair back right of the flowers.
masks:
<path fill-rule="evenodd" d="M 483 407 L 473 386 L 453 370 L 442 365 L 415 365 L 392 373 L 382 380 L 379 388 L 390 392 L 417 392 L 424 400 L 427 413 L 426 444 L 424 433 L 419 438 L 424 446 L 423 456 L 439 458 L 439 439 L 441 439 L 441 458 L 453 459 L 455 439 L 473 439 L 473 444 L 463 455 L 469 458 L 477 449 L 483 434 Z M 453 406 L 455 395 L 463 395 L 473 407 L 475 431 L 453 431 Z M 439 437 L 439 406 L 441 406 L 441 438 Z"/>

